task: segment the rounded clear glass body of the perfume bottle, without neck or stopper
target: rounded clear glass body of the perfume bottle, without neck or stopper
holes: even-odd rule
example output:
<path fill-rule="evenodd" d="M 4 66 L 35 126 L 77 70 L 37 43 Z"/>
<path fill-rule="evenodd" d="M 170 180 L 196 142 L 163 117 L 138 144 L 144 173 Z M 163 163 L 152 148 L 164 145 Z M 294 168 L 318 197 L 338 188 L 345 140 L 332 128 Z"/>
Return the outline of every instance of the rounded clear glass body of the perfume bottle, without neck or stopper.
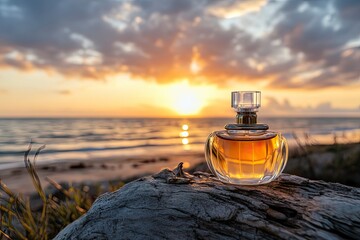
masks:
<path fill-rule="evenodd" d="M 206 141 L 205 158 L 221 181 L 259 185 L 284 170 L 288 145 L 280 133 L 272 131 L 215 131 Z"/>

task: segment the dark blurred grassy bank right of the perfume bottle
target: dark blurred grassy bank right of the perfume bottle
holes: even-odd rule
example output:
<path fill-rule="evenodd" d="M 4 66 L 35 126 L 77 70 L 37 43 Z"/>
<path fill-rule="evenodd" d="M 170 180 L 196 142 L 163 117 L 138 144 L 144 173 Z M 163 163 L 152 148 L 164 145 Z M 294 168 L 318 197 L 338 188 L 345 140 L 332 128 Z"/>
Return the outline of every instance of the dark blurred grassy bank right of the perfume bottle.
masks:
<path fill-rule="evenodd" d="M 334 135 L 333 144 L 321 145 L 310 137 L 305 137 L 304 141 L 296 134 L 293 137 L 297 148 L 285 172 L 360 187 L 360 142 L 339 144 Z"/>

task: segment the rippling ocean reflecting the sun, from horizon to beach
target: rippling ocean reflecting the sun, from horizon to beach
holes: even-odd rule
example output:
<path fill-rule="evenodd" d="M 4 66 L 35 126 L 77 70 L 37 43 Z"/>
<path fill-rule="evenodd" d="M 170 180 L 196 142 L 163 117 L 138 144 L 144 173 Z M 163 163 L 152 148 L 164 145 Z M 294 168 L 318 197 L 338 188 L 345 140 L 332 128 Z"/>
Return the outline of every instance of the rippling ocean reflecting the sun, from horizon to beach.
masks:
<path fill-rule="evenodd" d="M 23 165 L 30 142 L 45 144 L 40 163 L 202 152 L 207 136 L 228 118 L 0 119 L 0 169 Z M 290 145 L 301 141 L 360 142 L 360 118 L 260 118 Z"/>

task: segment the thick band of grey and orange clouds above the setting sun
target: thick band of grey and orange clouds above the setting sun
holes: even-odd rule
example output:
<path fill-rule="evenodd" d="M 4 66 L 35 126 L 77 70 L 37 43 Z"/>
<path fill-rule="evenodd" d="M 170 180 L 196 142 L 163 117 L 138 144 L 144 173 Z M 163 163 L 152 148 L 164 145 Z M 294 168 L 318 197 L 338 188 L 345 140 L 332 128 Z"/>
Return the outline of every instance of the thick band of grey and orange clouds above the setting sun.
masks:
<path fill-rule="evenodd" d="M 259 37 L 246 21 L 267 12 Z M 0 65 L 100 80 L 360 84 L 359 12 L 356 0 L 0 0 Z"/>

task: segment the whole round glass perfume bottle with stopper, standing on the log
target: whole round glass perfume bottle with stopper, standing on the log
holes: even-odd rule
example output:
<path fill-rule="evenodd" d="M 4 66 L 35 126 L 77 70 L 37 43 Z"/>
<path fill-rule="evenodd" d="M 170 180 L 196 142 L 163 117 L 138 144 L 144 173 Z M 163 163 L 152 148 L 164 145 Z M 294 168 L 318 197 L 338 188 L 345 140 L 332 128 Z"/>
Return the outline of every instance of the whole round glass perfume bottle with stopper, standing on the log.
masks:
<path fill-rule="evenodd" d="M 211 133 L 205 144 L 205 158 L 211 172 L 221 181 L 259 185 L 276 179 L 284 170 L 288 145 L 281 133 L 257 123 L 261 92 L 231 93 L 236 124 Z"/>

